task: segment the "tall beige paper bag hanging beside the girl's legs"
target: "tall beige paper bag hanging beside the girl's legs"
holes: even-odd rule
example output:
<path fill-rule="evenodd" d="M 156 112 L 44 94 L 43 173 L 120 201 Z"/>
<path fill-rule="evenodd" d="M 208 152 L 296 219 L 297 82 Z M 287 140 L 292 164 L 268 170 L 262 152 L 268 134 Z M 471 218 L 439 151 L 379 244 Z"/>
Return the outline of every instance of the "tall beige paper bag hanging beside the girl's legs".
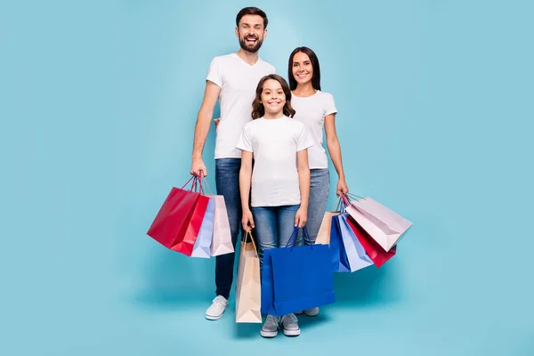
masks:
<path fill-rule="evenodd" d="M 262 322 L 260 260 L 250 232 L 241 240 L 236 283 L 236 322 Z"/>

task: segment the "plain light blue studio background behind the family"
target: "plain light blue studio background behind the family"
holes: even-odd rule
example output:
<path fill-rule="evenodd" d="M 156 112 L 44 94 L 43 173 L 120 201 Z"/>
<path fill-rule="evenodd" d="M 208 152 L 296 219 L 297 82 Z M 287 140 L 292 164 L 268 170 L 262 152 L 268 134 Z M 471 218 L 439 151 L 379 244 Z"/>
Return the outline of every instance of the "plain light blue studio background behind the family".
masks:
<path fill-rule="evenodd" d="M 380 270 L 336 275 L 298 338 L 237 325 L 233 298 L 204 320 L 214 260 L 145 233 L 251 4 L 0 4 L 0 353 L 534 354 L 530 1 L 252 4 L 279 73 L 295 46 L 318 54 L 352 192 L 414 227 Z M 213 150 L 212 131 L 212 188 Z"/>

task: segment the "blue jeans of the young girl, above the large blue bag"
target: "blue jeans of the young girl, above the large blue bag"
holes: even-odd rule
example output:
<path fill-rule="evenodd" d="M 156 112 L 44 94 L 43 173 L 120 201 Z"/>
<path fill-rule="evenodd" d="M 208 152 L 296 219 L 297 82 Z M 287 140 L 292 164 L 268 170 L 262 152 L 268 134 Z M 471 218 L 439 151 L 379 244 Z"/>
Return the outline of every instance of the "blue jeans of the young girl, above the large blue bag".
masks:
<path fill-rule="evenodd" d="M 263 269 L 263 251 L 268 248 L 286 247 L 295 230 L 296 206 L 258 206 L 252 207 L 260 271 Z M 293 246 L 289 243 L 287 247 Z"/>

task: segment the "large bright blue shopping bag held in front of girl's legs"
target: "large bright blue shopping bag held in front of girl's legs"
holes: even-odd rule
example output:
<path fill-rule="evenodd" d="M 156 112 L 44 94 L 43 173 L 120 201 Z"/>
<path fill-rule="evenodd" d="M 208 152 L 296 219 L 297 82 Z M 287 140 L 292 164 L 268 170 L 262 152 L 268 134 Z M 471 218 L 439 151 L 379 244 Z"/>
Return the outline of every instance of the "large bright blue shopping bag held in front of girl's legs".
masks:
<path fill-rule="evenodd" d="M 295 245 L 298 228 L 291 238 Z M 304 239 L 310 241 L 303 228 Z M 282 316 L 336 302 L 328 245 L 263 251 L 262 312 Z"/>

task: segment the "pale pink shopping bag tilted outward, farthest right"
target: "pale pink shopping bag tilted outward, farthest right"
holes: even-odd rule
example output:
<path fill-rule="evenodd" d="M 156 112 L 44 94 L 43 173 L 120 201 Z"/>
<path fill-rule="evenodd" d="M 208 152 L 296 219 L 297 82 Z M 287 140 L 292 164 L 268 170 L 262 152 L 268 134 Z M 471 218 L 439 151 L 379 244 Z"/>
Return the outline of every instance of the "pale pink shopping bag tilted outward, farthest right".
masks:
<path fill-rule="evenodd" d="M 372 198 L 352 200 L 346 211 L 385 251 L 399 243 L 412 226 L 411 222 Z"/>

